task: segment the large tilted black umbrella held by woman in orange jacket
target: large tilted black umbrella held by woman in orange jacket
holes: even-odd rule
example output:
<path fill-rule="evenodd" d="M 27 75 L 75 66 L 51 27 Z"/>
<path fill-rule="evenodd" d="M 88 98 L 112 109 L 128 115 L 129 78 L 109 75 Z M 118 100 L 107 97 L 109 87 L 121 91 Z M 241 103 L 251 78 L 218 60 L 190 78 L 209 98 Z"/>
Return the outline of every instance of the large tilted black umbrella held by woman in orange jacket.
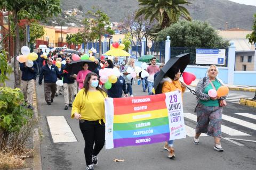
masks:
<path fill-rule="evenodd" d="M 171 67 L 173 66 L 179 67 L 180 72 L 183 73 L 189 61 L 190 61 L 190 53 L 185 53 L 185 54 L 181 54 L 176 57 L 170 58 L 170 60 L 162 67 L 159 74 L 154 80 L 154 88 L 155 88 L 156 94 L 162 94 L 161 81 L 165 76 L 168 76 L 168 71 L 171 69 Z"/>

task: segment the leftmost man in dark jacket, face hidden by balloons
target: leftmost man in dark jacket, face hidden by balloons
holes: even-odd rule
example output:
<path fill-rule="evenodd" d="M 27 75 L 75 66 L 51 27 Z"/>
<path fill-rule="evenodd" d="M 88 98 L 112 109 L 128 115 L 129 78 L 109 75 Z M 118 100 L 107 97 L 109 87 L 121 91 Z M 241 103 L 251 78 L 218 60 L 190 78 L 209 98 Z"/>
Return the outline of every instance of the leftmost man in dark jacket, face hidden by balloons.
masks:
<path fill-rule="evenodd" d="M 28 67 L 26 63 L 20 63 L 21 70 L 21 90 L 24 95 L 25 102 L 28 104 L 29 109 L 33 109 L 33 89 L 35 87 L 35 80 L 37 77 L 37 64 L 33 61 L 33 66 Z"/>

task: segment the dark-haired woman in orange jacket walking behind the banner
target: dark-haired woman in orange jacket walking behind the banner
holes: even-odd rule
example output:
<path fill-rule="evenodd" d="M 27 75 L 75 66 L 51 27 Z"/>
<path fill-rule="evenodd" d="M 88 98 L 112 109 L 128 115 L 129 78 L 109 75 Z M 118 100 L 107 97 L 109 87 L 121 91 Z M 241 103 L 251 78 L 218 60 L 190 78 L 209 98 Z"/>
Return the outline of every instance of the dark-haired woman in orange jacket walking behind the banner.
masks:
<path fill-rule="evenodd" d="M 180 79 L 180 69 L 178 67 L 171 67 L 171 69 L 167 72 L 167 75 L 169 77 L 165 77 L 162 82 L 163 82 L 163 87 L 162 87 L 162 92 L 171 92 L 175 90 L 179 90 L 182 92 L 185 92 L 186 86 L 185 84 L 181 83 L 179 81 Z M 173 149 L 173 141 L 170 140 L 165 142 L 164 149 L 169 151 L 168 157 L 169 158 L 174 158 L 174 149 Z"/>

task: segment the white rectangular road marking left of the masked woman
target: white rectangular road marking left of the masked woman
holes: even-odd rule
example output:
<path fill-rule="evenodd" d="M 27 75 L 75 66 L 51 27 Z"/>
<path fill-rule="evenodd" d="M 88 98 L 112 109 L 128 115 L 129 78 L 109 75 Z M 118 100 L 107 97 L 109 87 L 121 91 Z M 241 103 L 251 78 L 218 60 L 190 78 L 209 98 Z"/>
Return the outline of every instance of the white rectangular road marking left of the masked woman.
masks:
<path fill-rule="evenodd" d="M 54 143 L 77 142 L 64 116 L 47 116 L 46 118 Z"/>

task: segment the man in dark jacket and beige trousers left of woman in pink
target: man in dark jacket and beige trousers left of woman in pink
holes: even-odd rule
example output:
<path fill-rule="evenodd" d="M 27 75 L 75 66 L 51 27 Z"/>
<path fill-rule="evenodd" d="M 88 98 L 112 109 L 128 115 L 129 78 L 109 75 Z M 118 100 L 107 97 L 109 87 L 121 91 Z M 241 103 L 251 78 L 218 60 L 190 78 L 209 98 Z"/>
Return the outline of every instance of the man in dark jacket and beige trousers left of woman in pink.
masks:
<path fill-rule="evenodd" d="M 64 89 L 64 103 L 65 110 L 69 107 L 72 107 L 72 99 L 74 92 L 74 82 L 76 79 L 76 74 L 71 75 L 65 70 L 65 67 L 71 62 L 71 58 L 69 56 L 66 57 L 66 65 L 61 67 L 61 77 L 63 78 L 63 89 Z"/>

